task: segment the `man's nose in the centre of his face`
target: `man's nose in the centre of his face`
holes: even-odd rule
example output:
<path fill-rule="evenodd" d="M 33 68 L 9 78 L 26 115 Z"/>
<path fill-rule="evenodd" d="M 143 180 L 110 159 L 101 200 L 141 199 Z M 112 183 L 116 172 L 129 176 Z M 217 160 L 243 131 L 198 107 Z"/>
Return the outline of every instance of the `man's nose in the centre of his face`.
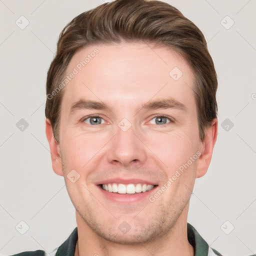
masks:
<path fill-rule="evenodd" d="M 117 127 L 115 136 L 109 141 L 107 159 L 120 166 L 139 165 L 146 160 L 146 146 L 132 125 L 124 131 Z"/>

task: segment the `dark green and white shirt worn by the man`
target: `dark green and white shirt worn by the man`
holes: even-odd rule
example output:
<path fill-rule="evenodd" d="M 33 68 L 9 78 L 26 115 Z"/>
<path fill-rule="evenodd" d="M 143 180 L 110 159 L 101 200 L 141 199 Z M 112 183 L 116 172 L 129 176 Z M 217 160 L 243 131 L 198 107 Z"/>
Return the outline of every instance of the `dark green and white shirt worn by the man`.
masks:
<path fill-rule="evenodd" d="M 77 238 L 77 227 L 75 227 L 69 237 L 59 247 L 50 252 L 50 254 L 43 250 L 36 250 L 25 251 L 12 256 L 74 256 Z M 189 223 L 187 223 L 187 238 L 194 248 L 194 256 L 221 256 L 220 253 L 208 246 L 207 242 Z"/>

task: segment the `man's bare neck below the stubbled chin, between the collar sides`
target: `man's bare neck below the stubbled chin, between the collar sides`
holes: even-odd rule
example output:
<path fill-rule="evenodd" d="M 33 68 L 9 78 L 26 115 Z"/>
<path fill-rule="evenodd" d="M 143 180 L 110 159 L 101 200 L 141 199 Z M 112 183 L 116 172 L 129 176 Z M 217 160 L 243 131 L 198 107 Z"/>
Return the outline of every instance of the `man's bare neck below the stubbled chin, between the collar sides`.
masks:
<path fill-rule="evenodd" d="M 186 221 L 187 211 L 184 209 L 167 233 L 145 243 L 120 244 L 106 240 L 104 237 L 96 234 L 76 211 L 78 240 L 75 248 L 75 256 L 192 256 L 194 252 L 193 247 L 187 240 Z"/>

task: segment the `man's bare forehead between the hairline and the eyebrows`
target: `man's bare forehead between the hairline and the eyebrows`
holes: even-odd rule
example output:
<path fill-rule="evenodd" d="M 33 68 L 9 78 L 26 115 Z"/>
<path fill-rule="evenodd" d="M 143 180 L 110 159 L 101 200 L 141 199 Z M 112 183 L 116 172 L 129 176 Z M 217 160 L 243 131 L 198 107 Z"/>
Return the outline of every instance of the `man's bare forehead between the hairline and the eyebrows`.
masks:
<path fill-rule="evenodd" d="M 83 98 L 119 107 L 164 96 L 194 103 L 190 67 L 176 51 L 164 46 L 142 42 L 89 45 L 73 55 L 66 75 L 65 107 Z"/>

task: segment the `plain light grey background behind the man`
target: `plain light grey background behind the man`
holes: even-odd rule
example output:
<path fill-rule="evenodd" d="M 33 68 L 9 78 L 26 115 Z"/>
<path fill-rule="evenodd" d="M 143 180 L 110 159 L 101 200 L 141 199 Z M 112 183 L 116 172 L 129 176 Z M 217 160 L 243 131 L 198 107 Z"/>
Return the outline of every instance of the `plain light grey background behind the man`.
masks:
<path fill-rule="evenodd" d="M 256 253 L 256 1 L 166 2 L 202 30 L 219 81 L 218 138 L 207 174 L 195 183 L 188 222 L 224 255 Z M 0 0 L 0 254 L 50 251 L 76 226 L 63 177 L 51 168 L 45 79 L 61 29 L 101 3 Z M 24 29 L 15 23 L 25 24 L 21 15 L 29 21 Z M 234 21 L 229 29 L 226 15 Z M 29 124 L 23 131 L 21 118 Z M 29 226 L 24 234 L 15 229 L 21 220 Z"/>

